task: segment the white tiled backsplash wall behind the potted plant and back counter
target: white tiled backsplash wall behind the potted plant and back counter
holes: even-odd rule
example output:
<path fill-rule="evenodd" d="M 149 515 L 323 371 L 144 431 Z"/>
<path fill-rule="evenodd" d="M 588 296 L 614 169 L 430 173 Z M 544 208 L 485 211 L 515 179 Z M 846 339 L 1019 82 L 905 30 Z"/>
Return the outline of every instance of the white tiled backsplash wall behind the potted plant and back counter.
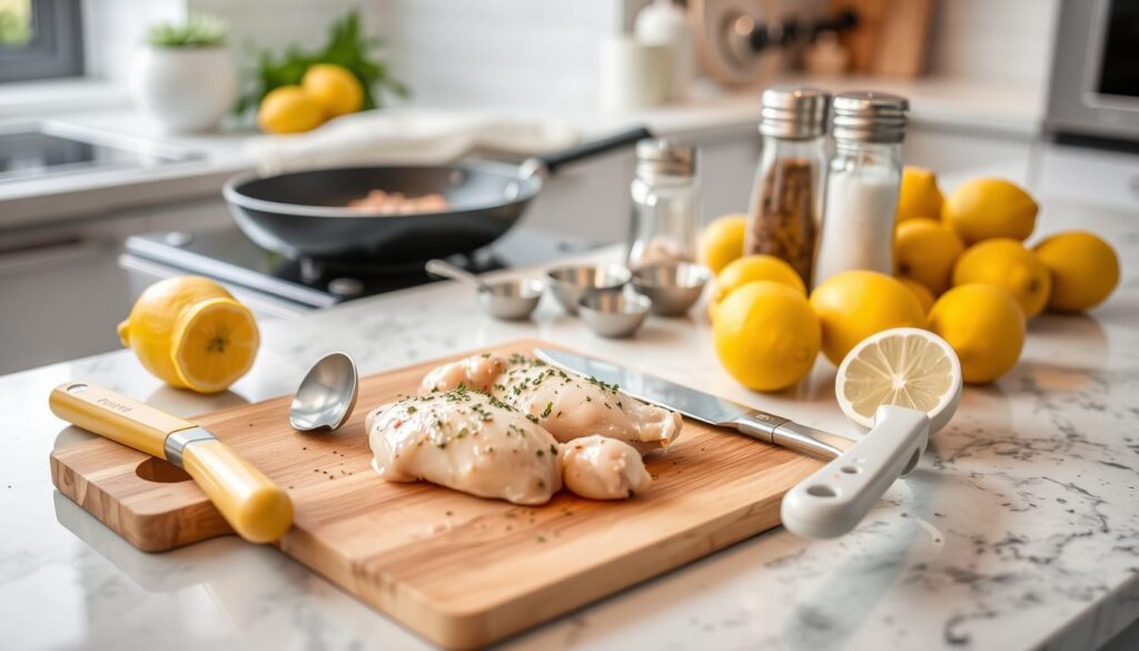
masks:
<path fill-rule="evenodd" d="M 1046 87 L 1060 0 L 942 0 L 929 71 L 939 76 Z M 432 106 L 523 111 L 596 106 L 599 46 L 644 0 L 85 0 L 89 70 L 122 80 L 146 26 L 187 11 L 226 18 L 244 67 L 264 47 L 312 48 L 328 25 L 359 8 L 366 31 L 386 40 L 396 78 Z M 809 11 L 822 0 L 779 0 Z"/>

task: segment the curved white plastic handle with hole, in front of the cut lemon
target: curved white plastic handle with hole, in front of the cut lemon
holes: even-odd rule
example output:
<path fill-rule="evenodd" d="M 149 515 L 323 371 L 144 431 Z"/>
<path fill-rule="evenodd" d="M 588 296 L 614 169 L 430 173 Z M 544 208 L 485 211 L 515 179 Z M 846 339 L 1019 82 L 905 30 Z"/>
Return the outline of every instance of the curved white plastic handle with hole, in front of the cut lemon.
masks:
<path fill-rule="evenodd" d="M 784 527 L 808 538 L 834 538 L 853 529 L 899 477 L 917 465 L 929 440 L 929 418 L 916 409 L 883 405 L 875 426 L 837 458 L 784 496 Z"/>

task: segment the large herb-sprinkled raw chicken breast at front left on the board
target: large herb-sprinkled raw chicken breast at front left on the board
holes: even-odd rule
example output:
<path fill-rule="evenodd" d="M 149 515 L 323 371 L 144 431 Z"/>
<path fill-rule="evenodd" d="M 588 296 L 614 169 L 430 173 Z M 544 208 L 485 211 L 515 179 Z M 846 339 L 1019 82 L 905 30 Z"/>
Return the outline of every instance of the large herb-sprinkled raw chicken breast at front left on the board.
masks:
<path fill-rule="evenodd" d="M 409 397 L 368 414 L 372 467 L 388 481 L 420 479 L 480 497 L 544 504 L 562 488 L 554 437 L 477 391 Z"/>

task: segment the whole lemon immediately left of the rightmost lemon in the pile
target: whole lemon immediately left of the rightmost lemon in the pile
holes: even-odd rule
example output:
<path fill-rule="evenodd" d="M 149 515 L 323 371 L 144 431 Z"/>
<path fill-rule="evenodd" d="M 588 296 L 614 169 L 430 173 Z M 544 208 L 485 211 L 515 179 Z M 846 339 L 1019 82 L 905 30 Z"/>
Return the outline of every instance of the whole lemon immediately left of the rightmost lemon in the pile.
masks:
<path fill-rule="evenodd" d="M 1052 279 L 1048 267 L 1015 239 L 986 239 L 961 254 L 953 268 L 953 285 L 983 283 L 1008 292 L 1024 316 L 1032 318 L 1048 304 Z"/>

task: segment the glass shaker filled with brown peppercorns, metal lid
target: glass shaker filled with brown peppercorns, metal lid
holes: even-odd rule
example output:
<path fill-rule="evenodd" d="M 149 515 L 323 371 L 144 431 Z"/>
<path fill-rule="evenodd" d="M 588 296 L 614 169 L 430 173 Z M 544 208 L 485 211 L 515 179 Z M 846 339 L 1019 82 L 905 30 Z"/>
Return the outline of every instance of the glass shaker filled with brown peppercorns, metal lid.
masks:
<path fill-rule="evenodd" d="M 813 88 L 763 91 L 763 154 L 755 172 L 746 253 L 786 261 L 811 285 L 817 233 L 822 220 L 829 96 Z"/>

